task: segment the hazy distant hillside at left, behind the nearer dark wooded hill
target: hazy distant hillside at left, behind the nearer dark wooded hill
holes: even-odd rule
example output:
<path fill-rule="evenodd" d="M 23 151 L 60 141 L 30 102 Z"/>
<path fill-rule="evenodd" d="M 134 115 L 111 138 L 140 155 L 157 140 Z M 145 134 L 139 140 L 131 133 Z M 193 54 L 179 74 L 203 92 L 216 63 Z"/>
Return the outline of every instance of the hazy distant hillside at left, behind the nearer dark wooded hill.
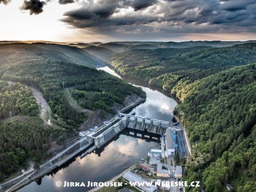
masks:
<path fill-rule="evenodd" d="M 11 43 L 0 44 L 1 64 L 26 61 L 31 59 L 72 62 L 87 67 L 95 67 L 95 59 L 82 49 L 67 45 L 46 43 Z"/>

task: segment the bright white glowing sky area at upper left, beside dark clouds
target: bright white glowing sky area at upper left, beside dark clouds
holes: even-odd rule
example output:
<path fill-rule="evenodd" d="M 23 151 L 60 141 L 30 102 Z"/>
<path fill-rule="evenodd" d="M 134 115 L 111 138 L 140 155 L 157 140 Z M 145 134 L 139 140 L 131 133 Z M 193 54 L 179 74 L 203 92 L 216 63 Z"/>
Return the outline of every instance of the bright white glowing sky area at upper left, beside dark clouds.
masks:
<path fill-rule="evenodd" d="M 29 41 L 47 40 L 64 41 L 66 36 L 74 36 L 74 29 L 63 25 L 59 19 L 64 12 L 74 5 L 59 5 L 57 2 L 45 5 L 44 12 L 29 15 L 29 11 L 21 11 L 23 1 L 12 0 L 8 5 L 0 4 L 0 40 Z"/>

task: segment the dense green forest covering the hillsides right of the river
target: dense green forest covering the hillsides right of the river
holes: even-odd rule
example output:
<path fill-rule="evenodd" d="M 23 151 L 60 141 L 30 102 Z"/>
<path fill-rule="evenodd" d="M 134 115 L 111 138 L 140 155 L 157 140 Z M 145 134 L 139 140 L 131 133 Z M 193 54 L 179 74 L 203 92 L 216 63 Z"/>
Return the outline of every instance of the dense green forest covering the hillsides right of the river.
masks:
<path fill-rule="evenodd" d="M 174 113 L 193 145 L 184 180 L 200 180 L 206 192 L 222 191 L 225 183 L 256 190 L 256 64 L 246 65 L 256 61 L 255 53 L 256 44 L 248 43 L 133 50 L 109 59 L 119 73 L 179 98 Z"/>

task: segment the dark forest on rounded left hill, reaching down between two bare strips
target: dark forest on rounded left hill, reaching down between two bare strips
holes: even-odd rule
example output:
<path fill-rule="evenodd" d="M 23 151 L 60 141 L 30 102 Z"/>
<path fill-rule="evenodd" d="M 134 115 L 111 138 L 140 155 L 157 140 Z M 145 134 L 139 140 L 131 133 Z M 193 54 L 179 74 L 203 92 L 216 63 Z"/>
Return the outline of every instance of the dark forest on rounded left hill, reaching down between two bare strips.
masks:
<path fill-rule="evenodd" d="M 124 98 L 132 93 L 145 93 L 105 71 L 75 65 L 73 63 L 54 60 L 30 60 L 3 65 L 2 79 L 20 82 L 37 87 L 49 103 L 53 118 L 66 129 L 74 130 L 84 121 L 85 115 L 72 108 L 65 95 L 63 87 L 74 87 L 73 95 L 76 99 L 84 97 L 82 106 L 90 109 L 104 109 L 111 112 L 114 102 L 123 103 Z M 81 96 L 78 91 L 94 92 L 96 97 Z M 84 93 L 84 92 L 83 92 Z M 93 107 L 86 105 L 89 103 Z"/>

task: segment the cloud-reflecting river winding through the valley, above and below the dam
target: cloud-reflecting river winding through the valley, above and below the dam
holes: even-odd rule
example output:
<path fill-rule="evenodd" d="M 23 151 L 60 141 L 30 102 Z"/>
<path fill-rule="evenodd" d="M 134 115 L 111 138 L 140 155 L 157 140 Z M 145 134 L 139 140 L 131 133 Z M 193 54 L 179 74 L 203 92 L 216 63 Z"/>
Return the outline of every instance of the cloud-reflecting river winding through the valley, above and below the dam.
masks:
<path fill-rule="evenodd" d="M 111 75 L 117 75 L 108 67 L 99 68 L 105 70 Z M 120 77 L 121 78 L 121 77 Z M 161 92 L 159 87 L 149 87 L 145 82 L 125 78 L 127 82 L 140 86 L 147 94 L 144 103 L 135 107 L 132 112 L 138 116 L 161 119 L 163 121 L 172 121 L 173 109 L 177 102 L 171 98 L 168 93 Z M 170 96 L 170 97 L 169 97 Z M 45 175 L 37 182 L 20 189 L 20 192 L 44 192 L 44 191 L 76 191 L 82 192 L 89 188 L 86 187 L 57 187 L 57 181 L 106 181 L 121 173 L 127 167 L 137 163 L 141 158 L 145 158 L 151 148 L 158 149 L 159 143 L 155 141 L 146 141 L 139 138 L 133 138 L 125 134 L 117 135 L 108 145 L 100 150 L 96 150 L 84 158 L 75 157 L 67 164 L 55 170 L 49 175 Z"/>

